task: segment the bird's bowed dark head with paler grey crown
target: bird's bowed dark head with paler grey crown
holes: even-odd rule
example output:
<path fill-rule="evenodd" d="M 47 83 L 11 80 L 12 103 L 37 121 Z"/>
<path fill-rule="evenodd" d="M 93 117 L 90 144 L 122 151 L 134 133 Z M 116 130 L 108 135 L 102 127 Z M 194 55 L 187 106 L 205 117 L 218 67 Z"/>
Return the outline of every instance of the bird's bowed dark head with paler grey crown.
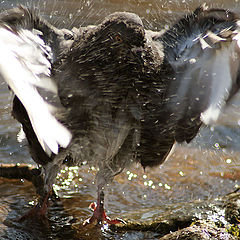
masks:
<path fill-rule="evenodd" d="M 89 30 L 85 41 L 88 57 L 92 51 L 99 60 L 108 62 L 117 62 L 118 59 L 126 62 L 126 59 L 135 58 L 132 56 L 134 49 L 144 47 L 145 42 L 140 17 L 128 12 L 116 12 L 106 17 L 101 24 Z"/>

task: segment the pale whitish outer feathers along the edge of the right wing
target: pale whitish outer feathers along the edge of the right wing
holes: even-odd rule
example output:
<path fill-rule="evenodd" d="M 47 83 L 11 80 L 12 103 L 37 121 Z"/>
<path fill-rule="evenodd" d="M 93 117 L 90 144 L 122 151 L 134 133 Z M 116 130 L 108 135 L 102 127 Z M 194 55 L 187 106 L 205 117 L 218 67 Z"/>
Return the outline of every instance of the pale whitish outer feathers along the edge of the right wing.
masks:
<path fill-rule="evenodd" d="M 215 123 L 228 100 L 232 85 L 235 84 L 240 66 L 240 33 L 234 33 L 230 44 L 223 43 L 211 65 L 212 86 L 209 96 L 209 106 L 201 113 L 204 124 Z"/>

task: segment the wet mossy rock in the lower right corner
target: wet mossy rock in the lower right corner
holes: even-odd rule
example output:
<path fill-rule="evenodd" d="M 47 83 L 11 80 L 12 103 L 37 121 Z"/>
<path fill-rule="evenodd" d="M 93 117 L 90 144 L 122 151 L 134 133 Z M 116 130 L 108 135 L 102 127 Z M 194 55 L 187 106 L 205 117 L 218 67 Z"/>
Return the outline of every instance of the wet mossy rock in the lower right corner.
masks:
<path fill-rule="evenodd" d="M 232 193 L 217 199 L 144 209 L 126 214 L 123 219 L 127 224 L 112 229 L 158 232 L 161 240 L 239 239 L 239 199 L 239 193 Z"/>

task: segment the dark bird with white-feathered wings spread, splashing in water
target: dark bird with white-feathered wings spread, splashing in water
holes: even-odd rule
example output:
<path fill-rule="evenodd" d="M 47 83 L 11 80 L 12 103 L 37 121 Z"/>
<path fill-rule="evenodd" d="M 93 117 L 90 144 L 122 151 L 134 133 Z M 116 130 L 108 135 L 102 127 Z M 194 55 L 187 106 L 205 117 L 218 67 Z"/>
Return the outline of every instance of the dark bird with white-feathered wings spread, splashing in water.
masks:
<path fill-rule="evenodd" d="M 163 34 L 144 30 L 132 13 L 58 30 L 23 7 L 2 15 L 0 26 L 1 52 L 21 72 L 10 74 L 0 60 L 16 95 L 13 115 L 43 169 L 40 214 L 62 165 L 87 161 L 99 167 L 88 222 L 118 223 L 104 213 L 106 183 L 134 161 L 162 163 L 175 142 L 216 121 L 239 88 L 239 17 L 229 10 L 202 5 Z"/>

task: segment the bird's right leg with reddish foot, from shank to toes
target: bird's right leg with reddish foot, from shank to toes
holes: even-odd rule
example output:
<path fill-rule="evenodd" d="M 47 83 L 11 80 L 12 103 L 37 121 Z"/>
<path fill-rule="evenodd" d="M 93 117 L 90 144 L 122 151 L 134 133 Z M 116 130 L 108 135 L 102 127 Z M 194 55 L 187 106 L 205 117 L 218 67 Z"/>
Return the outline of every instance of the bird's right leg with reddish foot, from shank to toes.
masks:
<path fill-rule="evenodd" d="M 104 210 L 103 187 L 98 187 L 97 203 L 91 203 L 89 208 L 91 208 L 93 210 L 93 215 L 91 218 L 84 221 L 84 225 L 87 225 L 87 224 L 98 225 L 98 224 L 103 224 L 103 223 L 108 223 L 108 224 L 125 223 L 121 219 L 111 219 L 106 215 L 105 210 Z"/>

